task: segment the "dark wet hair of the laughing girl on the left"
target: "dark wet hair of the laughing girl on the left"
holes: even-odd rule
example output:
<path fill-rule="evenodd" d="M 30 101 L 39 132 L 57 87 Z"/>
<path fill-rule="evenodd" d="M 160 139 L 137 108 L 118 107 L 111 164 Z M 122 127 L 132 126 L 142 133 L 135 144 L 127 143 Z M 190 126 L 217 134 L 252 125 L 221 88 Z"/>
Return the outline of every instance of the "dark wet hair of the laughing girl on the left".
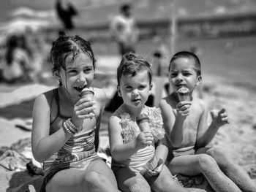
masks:
<path fill-rule="evenodd" d="M 50 50 L 50 56 L 53 62 L 53 76 L 59 77 L 61 68 L 66 71 L 67 57 L 71 56 L 71 62 L 73 62 L 80 53 L 85 53 L 91 58 L 95 69 L 96 60 L 89 41 L 78 35 L 66 36 L 66 34 L 59 34 L 59 38 L 53 42 L 53 46 Z"/>

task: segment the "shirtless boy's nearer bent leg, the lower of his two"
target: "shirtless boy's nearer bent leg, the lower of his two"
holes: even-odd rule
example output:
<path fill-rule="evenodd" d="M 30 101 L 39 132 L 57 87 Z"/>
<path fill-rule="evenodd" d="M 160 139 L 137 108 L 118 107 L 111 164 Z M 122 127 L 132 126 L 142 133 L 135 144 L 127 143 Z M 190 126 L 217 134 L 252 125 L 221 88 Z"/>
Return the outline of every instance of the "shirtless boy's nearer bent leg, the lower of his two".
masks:
<path fill-rule="evenodd" d="M 184 174 L 187 176 L 203 174 L 215 191 L 241 192 L 238 186 L 219 169 L 217 162 L 210 155 L 178 156 L 169 162 L 168 168 L 172 174 Z"/>

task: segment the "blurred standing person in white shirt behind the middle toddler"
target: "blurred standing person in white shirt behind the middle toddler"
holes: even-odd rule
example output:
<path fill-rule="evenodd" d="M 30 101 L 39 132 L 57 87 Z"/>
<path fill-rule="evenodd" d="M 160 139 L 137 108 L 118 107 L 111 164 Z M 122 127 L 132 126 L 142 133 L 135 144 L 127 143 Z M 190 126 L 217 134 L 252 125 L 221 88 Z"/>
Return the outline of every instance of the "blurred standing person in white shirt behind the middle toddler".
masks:
<path fill-rule="evenodd" d="M 116 15 L 110 23 L 110 32 L 118 42 L 119 54 L 135 53 L 135 44 L 138 42 L 139 30 L 132 17 L 131 5 L 123 4 L 120 7 L 120 14 Z"/>

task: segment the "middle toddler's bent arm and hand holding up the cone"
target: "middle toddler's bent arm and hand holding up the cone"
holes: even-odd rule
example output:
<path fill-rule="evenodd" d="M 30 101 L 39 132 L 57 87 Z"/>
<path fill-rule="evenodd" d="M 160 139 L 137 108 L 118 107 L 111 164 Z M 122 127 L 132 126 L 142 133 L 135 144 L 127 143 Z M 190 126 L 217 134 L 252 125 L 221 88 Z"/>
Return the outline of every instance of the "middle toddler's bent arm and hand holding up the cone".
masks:
<path fill-rule="evenodd" d="M 139 149 L 151 144 L 154 140 L 150 132 L 141 132 L 138 137 L 131 142 L 123 144 L 121 137 L 120 119 L 112 116 L 108 123 L 108 134 L 110 139 L 111 155 L 116 161 L 124 161 Z"/>

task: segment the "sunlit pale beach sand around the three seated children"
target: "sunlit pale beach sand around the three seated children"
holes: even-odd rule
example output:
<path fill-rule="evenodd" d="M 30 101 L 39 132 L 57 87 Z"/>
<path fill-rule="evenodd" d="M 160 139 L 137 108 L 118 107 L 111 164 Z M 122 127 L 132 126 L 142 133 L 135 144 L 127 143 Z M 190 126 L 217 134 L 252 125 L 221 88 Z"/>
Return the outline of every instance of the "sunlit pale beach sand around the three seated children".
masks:
<path fill-rule="evenodd" d="M 118 61 L 118 58 L 111 59 L 112 62 Z M 106 58 L 102 58 L 102 61 L 104 60 Z M 99 69 L 101 68 L 99 67 Z M 98 73 L 100 74 L 100 71 Z M 110 77 L 109 75 L 99 74 L 95 77 L 94 86 L 104 89 L 108 99 L 110 99 L 116 87 L 113 75 Z M 45 85 L 38 82 L 21 85 L 0 85 L 1 147 L 10 147 L 10 145 L 17 143 L 20 139 L 31 138 L 31 110 L 34 98 L 39 93 L 52 88 L 54 88 L 54 85 Z M 219 129 L 211 145 L 227 150 L 230 158 L 233 158 L 234 161 L 240 164 L 256 183 L 255 86 L 248 83 L 238 84 L 237 82 L 225 80 L 225 78 L 216 78 L 208 74 L 203 79 L 202 90 L 203 99 L 207 102 L 209 109 L 213 110 L 225 107 L 230 118 L 230 123 Z M 99 151 L 101 152 L 105 151 L 105 148 L 108 147 L 107 130 L 109 116 L 110 112 L 105 111 L 100 131 Z M 211 118 L 209 117 L 210 121 Z M 31 151 L 30 153 L 28 151 L 26 153 L 31 157 Z M 8 175 L 6 169 L 4 173 Z M 1 183 L 4 183 L 0 191 L 3 188 L 17 188 L 17 185 L 12 188 L 10 187 L 10 183 L 8 183 L 13 177 L 11 173 L 13 172 L 9 172 L 9 177 L 5 177 L 4 181 L 0 179 Z"/>

